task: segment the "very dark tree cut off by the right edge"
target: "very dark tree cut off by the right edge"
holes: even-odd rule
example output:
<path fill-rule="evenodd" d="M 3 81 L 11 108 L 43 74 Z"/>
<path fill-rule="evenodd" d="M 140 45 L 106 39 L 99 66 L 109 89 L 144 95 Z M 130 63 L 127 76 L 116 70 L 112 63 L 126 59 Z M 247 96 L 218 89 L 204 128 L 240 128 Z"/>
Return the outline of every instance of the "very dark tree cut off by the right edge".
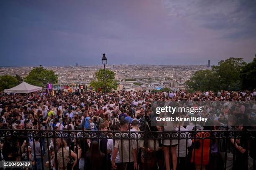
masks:
<path fill-rule="evenodd" d="M 243 90 L 256 89 L 256 57 L 241 68 L 240 77 Z"/>

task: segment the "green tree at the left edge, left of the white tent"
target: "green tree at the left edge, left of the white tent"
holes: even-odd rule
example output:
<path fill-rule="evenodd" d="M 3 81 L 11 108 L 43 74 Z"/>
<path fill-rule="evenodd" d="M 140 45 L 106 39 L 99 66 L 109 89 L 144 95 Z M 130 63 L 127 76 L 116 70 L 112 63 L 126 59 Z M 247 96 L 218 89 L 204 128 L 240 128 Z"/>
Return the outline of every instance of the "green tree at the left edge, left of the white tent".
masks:
<path fill-rule="evenodd" d="M 9 89 L 18 85 L 18 80 L 11 75 L 0 76 L 0 91 Z"/>

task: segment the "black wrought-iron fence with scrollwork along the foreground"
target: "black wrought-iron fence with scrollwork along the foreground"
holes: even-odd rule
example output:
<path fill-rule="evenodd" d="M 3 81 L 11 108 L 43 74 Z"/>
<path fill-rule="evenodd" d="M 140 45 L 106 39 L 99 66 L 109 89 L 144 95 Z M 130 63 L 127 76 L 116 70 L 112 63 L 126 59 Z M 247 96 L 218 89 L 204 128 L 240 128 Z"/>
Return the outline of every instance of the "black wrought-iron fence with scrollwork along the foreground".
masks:
<path fill-rule="evenodd" d="M 178 131 L 0 129 L 0 138 L 3 143 L 7 143 L 4 147 L 18 148 L 17 154 L 20 160 L 35 160 L 34 169 L 37 170 L 51 169 L 51 167 L 56 170 L 69 170 L 74 163 L 76 164 L 74 170 L 81 167 L 111 170 L 113 167 L 110 155 L 113 155 L 113 148 L 108 148 L 110 140 L 113 140 L 111 147 L 116 146 L 119 152 L 119 162 L 116 162 L 116 165 L 119 166 L 118 168 L 125 166 L 127 170 L 130 167 L 129 162 L 134 160 L 139 169 L 145 170 L 164 170 L 167 160 L 170 169 L 177 167 L 178 170 L 238 169 L 238 167 L 256 169 L 256 130 L 229 130 L 228 127 L 226 130 L 195 131 L 182 131 L 180 128 Z M 92 141 L 100 143 L 99 148 L 105 154 L 104 158 L 92 158 L 93 154 L 90 153 L 92 151 L 87 145 L 92 145 Z M 29 157 L 29 146 L 34 153 L 33 158 Z M 2 153 L 6 149 L 8 151 L 8 148 L 3 148 Z M 136 151 L 135 155 L 133 155 L 134 151 Z M 2 160 L 2 156 L 0 159 Z M 88 160 L 100 162 L 95 164 Z M 92 165 L 89 166 L 90 163 Z M 132 165 L 130 169 L 133 168 Z"/>

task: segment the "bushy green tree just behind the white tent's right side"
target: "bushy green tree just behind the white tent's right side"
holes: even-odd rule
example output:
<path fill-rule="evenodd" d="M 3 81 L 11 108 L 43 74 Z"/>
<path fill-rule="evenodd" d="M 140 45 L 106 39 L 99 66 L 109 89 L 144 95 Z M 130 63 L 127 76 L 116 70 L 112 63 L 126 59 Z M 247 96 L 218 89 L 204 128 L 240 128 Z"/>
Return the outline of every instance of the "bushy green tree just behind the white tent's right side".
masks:
<path fill-rule="evenodd" d="M 58 76 L 54 74 L 52 70 L 46 70 L 44 67 L 33 68 L 28 76 L 26 77 L 26 82 L 31 85 L 46 87 L 50 82 L 51 84 L 58 83 Z"/>

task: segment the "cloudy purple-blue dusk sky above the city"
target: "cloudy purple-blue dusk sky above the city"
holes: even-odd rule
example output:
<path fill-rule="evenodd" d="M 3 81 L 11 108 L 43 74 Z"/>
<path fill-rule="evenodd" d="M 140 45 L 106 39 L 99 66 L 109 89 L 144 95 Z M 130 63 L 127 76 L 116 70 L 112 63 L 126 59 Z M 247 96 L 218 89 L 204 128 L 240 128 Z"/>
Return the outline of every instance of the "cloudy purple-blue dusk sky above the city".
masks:
<path fill-rule="evenodd" d="M 1 0 L 0 65 L 253 60 L 256 0 Z"/>

